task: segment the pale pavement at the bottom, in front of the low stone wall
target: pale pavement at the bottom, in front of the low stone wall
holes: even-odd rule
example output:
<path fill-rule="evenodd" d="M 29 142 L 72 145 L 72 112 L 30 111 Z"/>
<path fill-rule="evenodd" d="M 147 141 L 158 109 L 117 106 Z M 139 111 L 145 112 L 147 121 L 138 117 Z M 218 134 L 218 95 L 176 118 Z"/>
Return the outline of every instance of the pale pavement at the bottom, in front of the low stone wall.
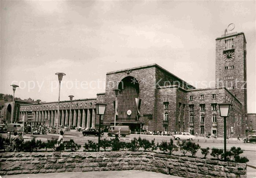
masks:
<path fill-rule="evenodd" d="M 16 174 L 4 175 L 2 178 L 179 178 L 174 175 L 167 175 L 141 170 L 127 171 L 89 171 L 89 172 L 66 172 L 46 174 Z"/>

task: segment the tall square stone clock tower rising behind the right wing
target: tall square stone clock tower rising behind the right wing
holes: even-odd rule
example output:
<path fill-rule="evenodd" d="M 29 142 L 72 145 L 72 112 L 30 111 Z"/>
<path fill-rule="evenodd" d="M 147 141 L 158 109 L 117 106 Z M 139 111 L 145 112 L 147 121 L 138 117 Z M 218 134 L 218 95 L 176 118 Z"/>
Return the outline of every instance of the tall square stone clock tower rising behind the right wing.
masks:
<path fill-rule="evenodd" d="M 233 32 L 216 38 L 215 65 L 215 86 L 226 87 L 242 103 L 241 129 L 245 131 L 247 86 L 246 39 L 243 32 Z"/>

